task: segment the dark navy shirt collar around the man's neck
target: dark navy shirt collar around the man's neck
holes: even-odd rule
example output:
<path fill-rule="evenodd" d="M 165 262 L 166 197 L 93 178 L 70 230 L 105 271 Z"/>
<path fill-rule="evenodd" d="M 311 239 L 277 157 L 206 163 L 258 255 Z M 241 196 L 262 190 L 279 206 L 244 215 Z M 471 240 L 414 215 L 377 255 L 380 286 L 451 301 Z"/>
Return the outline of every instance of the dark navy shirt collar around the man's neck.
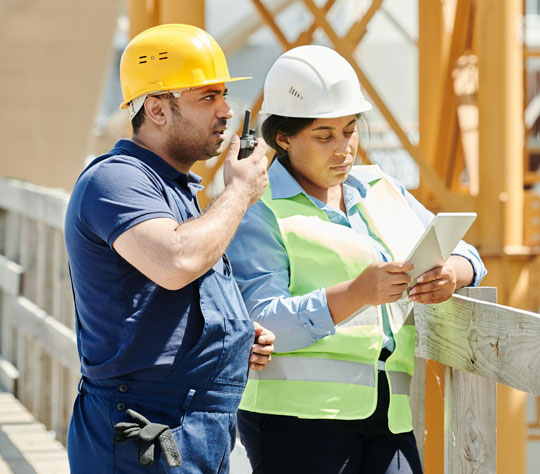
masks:
<path fill-rule="evenodd" d="M 196 189 L 204 187 L 201 185 L 202 178 L 199 175 L 192 171 L 187 175 L 178 171 L 153 151 L 143 148 L 131 140 L 119 140 L 116 142 L 111 154 L 133 156 L 152 168 L 160 176 L 176 181 L 184 187 L 192 186 Z"/>

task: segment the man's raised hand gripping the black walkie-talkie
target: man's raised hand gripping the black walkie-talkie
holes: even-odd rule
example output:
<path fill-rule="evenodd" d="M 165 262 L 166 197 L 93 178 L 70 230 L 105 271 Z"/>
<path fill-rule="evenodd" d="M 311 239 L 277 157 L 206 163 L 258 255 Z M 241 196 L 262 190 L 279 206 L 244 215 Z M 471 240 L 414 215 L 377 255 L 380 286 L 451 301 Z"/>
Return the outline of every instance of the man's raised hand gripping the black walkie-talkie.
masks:
<path fill-rule="evenodd" d="M 258 138 L 253 153 L 248 158 L 239 160 L 240 139 L 238 135 L 234 135 L 231 140 L 223 165 L 225 188 L 232 187 L 238 197 L 244 197 L 247 207 L 257 202 L 268 185 L 268 159 L 265 155 L 267 149 L 265 141 Z"/>

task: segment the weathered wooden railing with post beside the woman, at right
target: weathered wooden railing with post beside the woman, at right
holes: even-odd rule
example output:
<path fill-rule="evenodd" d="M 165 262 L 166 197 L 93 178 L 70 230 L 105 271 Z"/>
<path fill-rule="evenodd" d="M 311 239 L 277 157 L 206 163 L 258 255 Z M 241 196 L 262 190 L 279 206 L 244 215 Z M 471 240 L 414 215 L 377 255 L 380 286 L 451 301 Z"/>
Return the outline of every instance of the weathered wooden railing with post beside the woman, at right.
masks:
<path fill-rule="evenodd" d="M 540 315 L 495 304 L 495 288 L 458 293 L 415 306 L 416 355 L 447 366 L 444 472 L 495 473 L 496 383 L 540 395 Z M 413 384 L 422 394 L 418 362 Z M 423 434 L 423 406 L 414 413 L 415 432 Z"/>

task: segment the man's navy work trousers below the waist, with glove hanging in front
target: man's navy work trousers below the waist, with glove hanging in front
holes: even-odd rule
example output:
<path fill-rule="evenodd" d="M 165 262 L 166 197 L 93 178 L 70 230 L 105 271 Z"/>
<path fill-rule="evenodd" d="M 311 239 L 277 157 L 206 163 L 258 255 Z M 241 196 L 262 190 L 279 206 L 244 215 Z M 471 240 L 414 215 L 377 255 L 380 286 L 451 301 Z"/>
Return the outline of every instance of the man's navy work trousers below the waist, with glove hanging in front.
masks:
<path fill-rule="evenodd" d="M 191 391 L 173 384 L 84 379 L 68 433 L 72 474 L 227 474 L 236 439 L 237 394 Z M 170 467 L 156 443 L 150 466 L 138 461 L 138 440 L 114 443 L 113 426 L 132 421 L 130 408 L 170 426 L 182 456 Z"/>

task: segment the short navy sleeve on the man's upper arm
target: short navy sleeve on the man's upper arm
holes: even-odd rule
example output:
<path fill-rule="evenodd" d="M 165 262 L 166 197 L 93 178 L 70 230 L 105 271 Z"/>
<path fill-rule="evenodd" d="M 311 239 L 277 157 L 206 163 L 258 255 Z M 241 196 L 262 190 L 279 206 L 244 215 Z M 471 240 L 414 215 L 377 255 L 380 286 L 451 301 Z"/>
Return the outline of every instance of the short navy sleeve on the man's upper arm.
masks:
<path fill-rule="evenodd" d="M 81 218 L 110 247 L 140 222 L 158 217 L 175 219 L 161 184 L 142 165 L 111 158 L 89 171 Z"/>

